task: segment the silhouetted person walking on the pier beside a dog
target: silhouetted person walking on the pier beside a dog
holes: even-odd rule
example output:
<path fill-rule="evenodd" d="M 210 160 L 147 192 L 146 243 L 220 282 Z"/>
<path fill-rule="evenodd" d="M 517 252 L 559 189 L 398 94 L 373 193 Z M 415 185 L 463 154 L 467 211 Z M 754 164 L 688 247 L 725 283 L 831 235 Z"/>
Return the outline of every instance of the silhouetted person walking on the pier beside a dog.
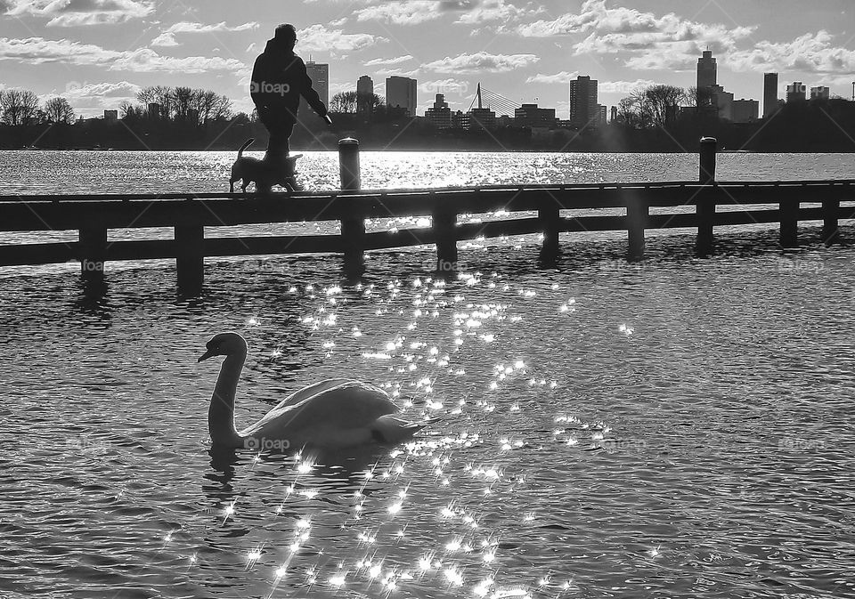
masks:
<path fill-rule="evenodd" d="M 256 58 L 252 69 L 249 95 L 256 105 L 258 120 L 265 125 L 270 139 L 265 162 L 275 174 L 281 174 L 281 185 L 288 183 L 299 189 L 294 177 L 294 161 L 289 160 L 289 137 L 297 124 L 300 98 L 305 98 L 327 125 L 332 120 L 321 97 L 312 87 L 305 71 L 305 62 L 294 53 L 297 29 L 291 24 L 276 28 L 273 39 L 267 41 L 265 52 Z"/>

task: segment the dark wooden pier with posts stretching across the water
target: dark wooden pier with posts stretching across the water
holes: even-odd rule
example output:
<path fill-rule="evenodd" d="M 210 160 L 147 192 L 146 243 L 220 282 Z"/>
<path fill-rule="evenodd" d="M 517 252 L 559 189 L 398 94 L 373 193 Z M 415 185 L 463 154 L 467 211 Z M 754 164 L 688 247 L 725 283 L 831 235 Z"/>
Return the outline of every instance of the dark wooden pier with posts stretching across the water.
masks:
<path fill-rule="evenodd" d="M 800 221 L 822 221 L 823 239 L 832 243 L 838 222 L 855 219 L 855 206 L 841 206 L 855 200 L 855 180 L 716 182 L 715 140 L 709 138 L 701 143 L 697 182 L 360 190 L 358 143 L 343 140 L 340 156 L 342 189 L 331 192 L 0 196 L 0 231 L 78 231 L 77 242 L 0 245 L 0 266 L 79 261 L 85 278 L 100 279 L 110 261 L 171 258 L 179 287 L 191 291 L 201 287 L 204 259 L 211 256 L 336 253 L 344 255 L 347 271 L 359 272 L 366 251 L 436 245 L 437 270 L 453 271 L 460 240 L 542 233 L 542 258 L 549 261 L 560 253 L 562 232 L 627 231 L 627 259 L 636 261 L 644 257 L 649 230 L 694 228 L 697 254 L 708 255 L 716 226 L 779 223 L 781 247 L 794 247 Z M 561 214 L 605 208 L 623 209 L 623 215 Z M 498 211 L 534 214 L 457 222 L 459 215 Z M 432 223 L 365 231 L 365 219 L 404 216 L 430 216 Z M 341 233 L 205 236 L 206 227 L 320 221 L 338 221 Z M 153 227 L 174 229 L 174 239 L 108 241 L 108 230 Z"/>

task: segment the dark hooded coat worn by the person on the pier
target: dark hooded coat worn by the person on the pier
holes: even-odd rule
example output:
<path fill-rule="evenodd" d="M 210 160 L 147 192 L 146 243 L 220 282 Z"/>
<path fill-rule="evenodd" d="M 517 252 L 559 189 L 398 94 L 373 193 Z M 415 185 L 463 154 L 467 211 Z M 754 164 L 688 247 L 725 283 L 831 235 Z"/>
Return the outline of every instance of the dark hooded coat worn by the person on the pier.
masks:
<path fill-rule="evenodd" d="M 327 107 L 312 87 L 312 78 L 305 72 L 303 59 L 275 38 L 268 40 L 265 52 L 256 58 L 249 95 L 265 125 L 273 122 L 294 125 L 300 96 L 319 117 L 327 114 Z"/>

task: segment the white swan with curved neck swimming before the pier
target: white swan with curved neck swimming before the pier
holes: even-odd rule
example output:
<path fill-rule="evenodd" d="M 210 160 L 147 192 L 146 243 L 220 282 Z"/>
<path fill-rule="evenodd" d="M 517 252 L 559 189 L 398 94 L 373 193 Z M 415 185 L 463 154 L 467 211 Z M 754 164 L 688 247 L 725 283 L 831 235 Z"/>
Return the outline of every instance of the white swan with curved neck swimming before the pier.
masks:
<path fill-rule="evenodd" d="M 292 393 L 256 424 L 234 427 L 234 394 L 247 360 L 247 342 L 237 333 L 220 333 L 206 344 L 198 362 L 225 356 L 208 409 L 208 430 L 216 448 L 346 449 L 404 441 L 427 425 L 393 416 L 388 393 L 371 384 L 331 378 Z"/>

